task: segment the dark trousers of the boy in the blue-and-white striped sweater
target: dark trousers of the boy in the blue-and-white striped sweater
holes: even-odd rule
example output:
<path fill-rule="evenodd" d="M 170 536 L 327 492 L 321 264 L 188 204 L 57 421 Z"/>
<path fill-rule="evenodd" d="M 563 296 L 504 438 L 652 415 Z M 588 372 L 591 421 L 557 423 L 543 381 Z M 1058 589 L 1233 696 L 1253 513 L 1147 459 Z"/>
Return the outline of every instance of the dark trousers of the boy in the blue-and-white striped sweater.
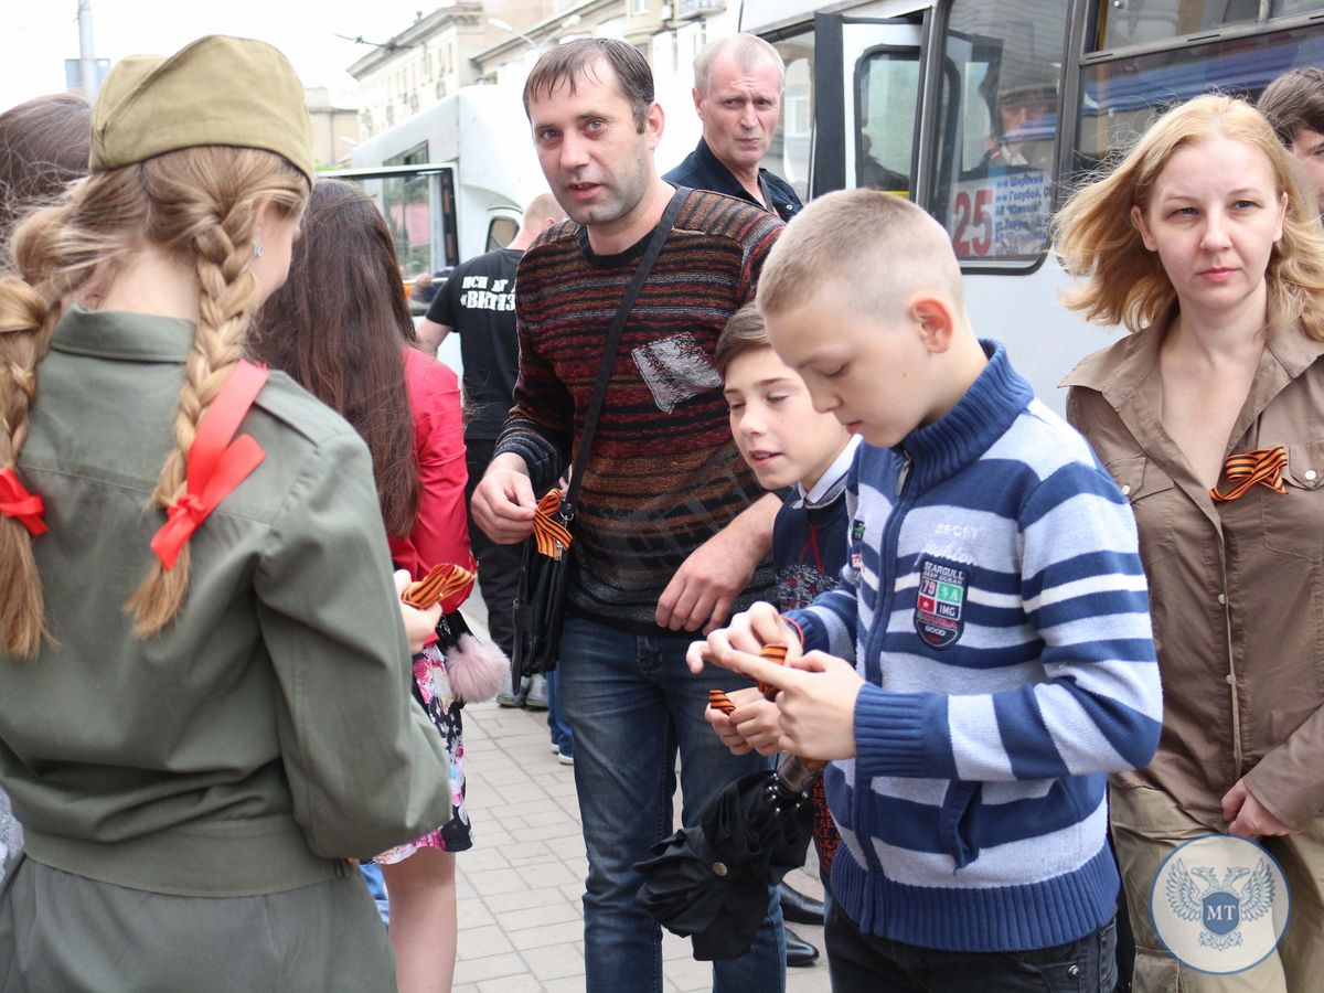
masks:
<path fill-rule="evenodd" d="M 944 952 L 862 935 L 835 903 L 825 931 L 833 993 L 1112 993 L 1113 922 L 1092 935 L 1029 952 Z"/>

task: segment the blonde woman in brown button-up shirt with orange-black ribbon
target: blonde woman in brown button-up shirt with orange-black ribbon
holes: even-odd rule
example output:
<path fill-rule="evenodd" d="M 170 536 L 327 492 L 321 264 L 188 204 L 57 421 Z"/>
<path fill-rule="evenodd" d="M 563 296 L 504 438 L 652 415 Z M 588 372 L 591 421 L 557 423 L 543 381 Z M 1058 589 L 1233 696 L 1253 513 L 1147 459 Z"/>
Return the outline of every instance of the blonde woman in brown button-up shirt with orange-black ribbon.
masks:
<path fill-rule="evenodd" d="M 1319 216 L 1259 113 L 1206 95 L 1161 117 L 1057 222 L 1083 277 L 1068 306 L 1132 332 L 1066 385 L 1068 418 L 1131 498 L 1164 681 L 1158 753 L 1111 794 L 1135 988 L 1312 989 L 1324 976 Z M 1233 951 L 1192 969 L 1151 919 L 1151 899 L 1170 892 L 1152 887 L 1180 845 L 1225 831 L 1278 858 L 1291 924 L 1258 964 L 1237 959 L 1239 933 L 1209 929 L 1201 949 Z M 1173 863 L 1189 891 L 1176 910 L 1217 916 L 1206 898 L 1221 894 L 1245 923 L 1267 907 L 1186 862 L 1200 869 L 1194 854 Z"/>

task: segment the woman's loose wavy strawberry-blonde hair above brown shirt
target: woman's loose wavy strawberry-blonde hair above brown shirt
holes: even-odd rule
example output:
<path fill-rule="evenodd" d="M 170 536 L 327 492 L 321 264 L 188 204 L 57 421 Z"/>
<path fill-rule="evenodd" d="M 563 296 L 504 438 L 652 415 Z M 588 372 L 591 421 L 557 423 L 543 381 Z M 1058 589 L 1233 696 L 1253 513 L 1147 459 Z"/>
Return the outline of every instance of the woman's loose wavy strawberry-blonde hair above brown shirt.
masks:
<path fill-rule="evenodd" d="M 1158 254 L 1145 249 L 1131 208 L 1149 208 L 1153 185 L 1181 148 L 1215 136 L 1258 148 L 1268 159 L 1279 195 L 1287 193 L 1283 237 L 1264 273 L 1270 334 L 1300 322 L 1324 340 L 1324 241 L 1315 199 L 1300 164 L 1279 143 L 1264 117 L 1246 101 L 1223 94 L 1196 97 L 1153 122 L 1112 172 L 1072 195 L 1054 218 L 1054 250 L 1083 285 L 1062 302 L 1100 324 L 1144 331 L 1170 312 L 1177 293 Z"/>

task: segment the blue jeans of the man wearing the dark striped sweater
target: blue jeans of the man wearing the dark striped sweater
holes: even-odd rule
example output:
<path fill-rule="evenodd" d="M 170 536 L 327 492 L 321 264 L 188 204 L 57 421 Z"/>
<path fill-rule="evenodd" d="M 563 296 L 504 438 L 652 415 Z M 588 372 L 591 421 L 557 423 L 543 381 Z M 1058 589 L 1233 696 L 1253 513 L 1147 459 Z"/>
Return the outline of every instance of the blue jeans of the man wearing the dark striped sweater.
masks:
<path fill-rule="evenodd" d="M 692 636 L 637 636 L 571 617 L 561 634 L 561 707 L 575 733 L 575 789 L 584 821 L 588 884 L 584 965 L 588 993 L 659 993 L 662 928 L 636 902 L 642 876 L 630 866 L 673 830 L 675 757 L 681 818 L 694 824 L 732 780 L 772 768 L 760 755 L 733 756 L 703 718 L 708 688 L 748 681 L 726 670 L 691 675 Z M 786 985 L 781 907 L 741 957 L 712 964 L 714 993 L 780 993 Z"/>

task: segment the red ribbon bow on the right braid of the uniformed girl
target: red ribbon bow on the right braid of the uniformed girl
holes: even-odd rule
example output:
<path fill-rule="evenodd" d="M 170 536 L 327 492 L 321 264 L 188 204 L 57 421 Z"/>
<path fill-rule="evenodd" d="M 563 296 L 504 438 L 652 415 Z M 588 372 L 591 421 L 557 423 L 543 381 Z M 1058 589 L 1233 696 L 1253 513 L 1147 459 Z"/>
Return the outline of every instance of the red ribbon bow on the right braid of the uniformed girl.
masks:
<path fill-rule="evenodd" d="M 167 569 L 175 568 L 193 532 L 266 457 L 252 434 L 234 438 L 266 377 L 265 367 L 240 361 L 199 421 L 188 448 L 184 495 L 166 508 L 166 523 L 152 536 L 152 551 Z"/>

